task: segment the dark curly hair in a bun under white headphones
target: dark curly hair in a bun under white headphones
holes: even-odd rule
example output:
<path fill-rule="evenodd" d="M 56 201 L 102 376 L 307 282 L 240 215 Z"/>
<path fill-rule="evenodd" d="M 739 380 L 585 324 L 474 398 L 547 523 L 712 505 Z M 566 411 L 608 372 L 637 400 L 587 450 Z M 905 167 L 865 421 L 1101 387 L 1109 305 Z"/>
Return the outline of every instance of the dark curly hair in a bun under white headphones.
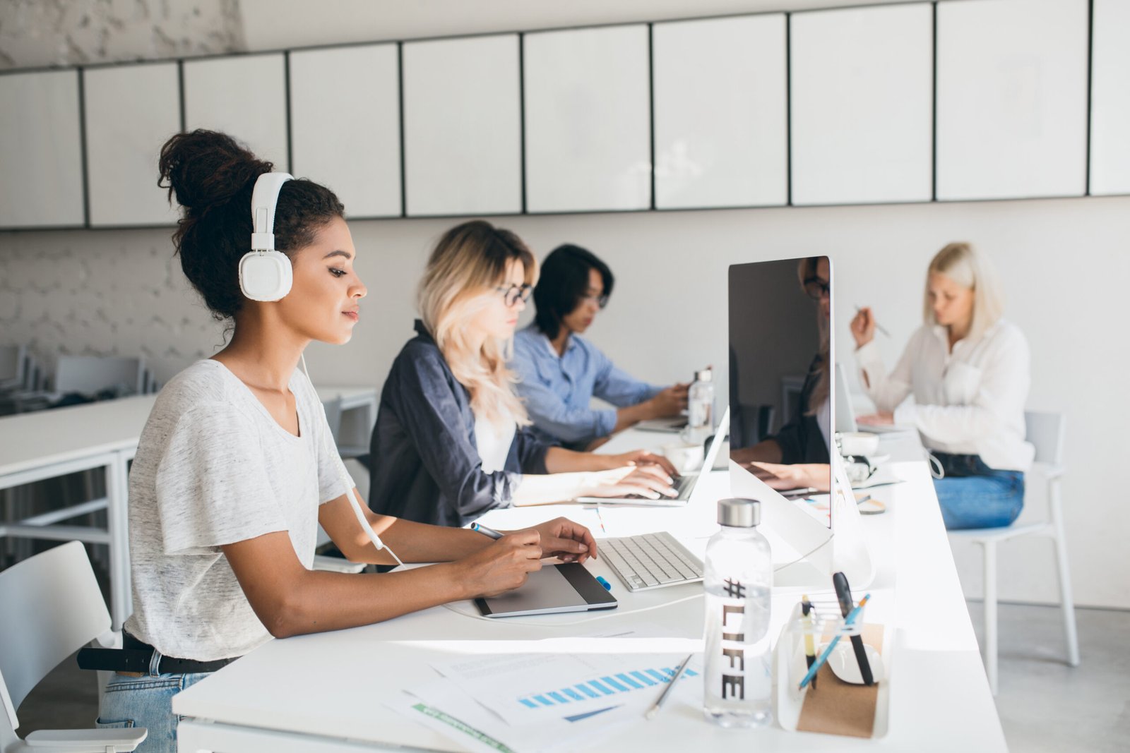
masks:
<path fill-rule="evenodd" d="M 184 208 L 173 234 L 181 269 L 218 319 L 235 316 L 246 300 L 240 259 L 251 251 L 251 195 L 255 180 L 275 166 L 216 131 L 177 133 L 160 148 L 157 184 Z M 307 180 L 287 181 L 275 209 L 275 247 L 308 246 L 327 222 L 344 217 L 332 191 Z"/>

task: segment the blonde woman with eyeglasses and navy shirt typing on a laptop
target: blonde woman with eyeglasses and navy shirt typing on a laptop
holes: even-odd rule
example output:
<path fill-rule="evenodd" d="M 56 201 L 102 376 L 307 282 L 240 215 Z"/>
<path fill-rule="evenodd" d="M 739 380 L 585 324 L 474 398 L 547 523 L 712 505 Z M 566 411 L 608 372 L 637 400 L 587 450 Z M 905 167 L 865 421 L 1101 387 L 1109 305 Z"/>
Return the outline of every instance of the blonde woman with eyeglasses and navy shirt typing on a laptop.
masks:
<path fill-rule="evenodd" d="M 440 238 L 419 286 L 417 334 L 381 394 L 371 444 L 375 511 L 462 526 L 522 500 L 675 496 L 666 458 L 577 453 L 529 431 L 506 364 L 537 277 L 521 238 L 489 222 L 464 222 Z M 598 471 L 608 473 L 590 473 Z M 546 483 L 562 473 L 571 475 Z"/>

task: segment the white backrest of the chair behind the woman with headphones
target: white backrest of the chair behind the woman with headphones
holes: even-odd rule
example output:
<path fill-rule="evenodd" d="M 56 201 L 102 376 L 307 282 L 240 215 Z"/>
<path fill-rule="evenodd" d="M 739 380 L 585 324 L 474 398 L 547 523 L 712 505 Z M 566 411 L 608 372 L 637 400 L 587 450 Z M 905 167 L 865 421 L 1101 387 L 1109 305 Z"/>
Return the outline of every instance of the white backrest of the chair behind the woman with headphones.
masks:
<path fill-rule="evenodd" d="M 78 541 L 0 571 L 0 694 L 16 729 L 16 709 L 27 694 L 60 662 L 108 631 L 110 612 Z"/>

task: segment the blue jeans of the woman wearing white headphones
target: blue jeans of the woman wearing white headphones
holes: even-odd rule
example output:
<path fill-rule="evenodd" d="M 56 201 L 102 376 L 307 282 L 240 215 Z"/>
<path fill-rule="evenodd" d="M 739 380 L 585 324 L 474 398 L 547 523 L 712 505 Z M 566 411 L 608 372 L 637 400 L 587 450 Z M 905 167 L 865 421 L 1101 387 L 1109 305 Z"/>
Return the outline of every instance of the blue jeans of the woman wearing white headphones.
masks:
<path fill-rule="evenodd" d="M 193 674 L 157 674 L 160 654 L 154 651 L 150 671 L 140 677 L 114 673 L 98 707 L 95 726 L 145 727 L 149 735 L 134 748 L 137 753 L 176 753 L 176 723 L 173 697 L 193 685 L 210 672 Z"/>

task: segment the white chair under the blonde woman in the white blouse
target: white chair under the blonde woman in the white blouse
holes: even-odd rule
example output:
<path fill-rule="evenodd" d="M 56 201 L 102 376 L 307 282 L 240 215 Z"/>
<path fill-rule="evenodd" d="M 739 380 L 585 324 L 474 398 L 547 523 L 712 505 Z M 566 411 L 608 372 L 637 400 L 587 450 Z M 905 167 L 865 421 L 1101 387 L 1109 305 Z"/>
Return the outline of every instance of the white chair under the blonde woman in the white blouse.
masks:
<path fill-rule="evenodd" d="M 1060 501 L 1060 479 L 1063 478 L 1062 413 L 1027 411 L 1026 439 L 1036 448 L 1035 463 L 1048 479 L 1048 516 L 1040 523 L 1014 524 L 1003 528 L 971 528 L 950 531 L 953 540 L 981 544 L 984 550 L 984 662 L 989 688 L 997 694 L 997 544 L 1019 536 L 1044 536 L 1055 544 L 1059 570 L 1060 606 L 1063 608 L 1063 632 L 1067 638 L 1067 660 L 1079 665 L 1079 638 L 1075 627 L 1075 601 L 1071 597 L 1071 578 L 1067 563 L 1067 540 L 1063 534 L 1063 507 Z"/>

